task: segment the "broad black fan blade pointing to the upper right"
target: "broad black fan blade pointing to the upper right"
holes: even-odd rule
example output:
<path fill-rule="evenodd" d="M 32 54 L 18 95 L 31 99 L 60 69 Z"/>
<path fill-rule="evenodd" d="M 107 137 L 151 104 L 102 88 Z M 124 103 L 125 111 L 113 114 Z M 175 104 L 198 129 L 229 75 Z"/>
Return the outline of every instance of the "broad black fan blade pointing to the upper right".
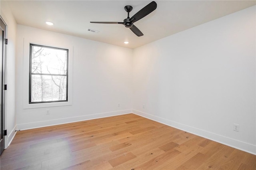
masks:
<path fill-rule="evenodd" d="M 141 18 L 147 16 L 148 14 L 150 14 L 151 12 L 153 12 L 156 9 L 156 6 L 157 6 L 156 2 L 154 2 L 154 1 L 150 2 L 147 6 L 142 8 L 139 12 L 134 14 L 134 16 L 132 16 L 130 18 L 130 21 L 136 22 L 136 21 L 140 20 Z"/>

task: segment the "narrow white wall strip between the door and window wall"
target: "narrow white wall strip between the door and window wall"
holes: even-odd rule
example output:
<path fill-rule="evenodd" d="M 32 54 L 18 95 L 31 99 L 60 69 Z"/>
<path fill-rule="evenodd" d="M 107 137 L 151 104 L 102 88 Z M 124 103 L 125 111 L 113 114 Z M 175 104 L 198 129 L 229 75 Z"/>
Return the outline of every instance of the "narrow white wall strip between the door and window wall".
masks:
<path fill-rule="evenodd" d="M 7 137 L 5 139 L 6 148 L 14 137 L 16 130 L 16 113 L 15 113 L 15 43 L 17 24 L 14 16 L 10 12 L 10 8 L 6 1 L 0 2 L 0 15 L 7 25 L 7 59 L 6 59 L 6 130 Z"/>

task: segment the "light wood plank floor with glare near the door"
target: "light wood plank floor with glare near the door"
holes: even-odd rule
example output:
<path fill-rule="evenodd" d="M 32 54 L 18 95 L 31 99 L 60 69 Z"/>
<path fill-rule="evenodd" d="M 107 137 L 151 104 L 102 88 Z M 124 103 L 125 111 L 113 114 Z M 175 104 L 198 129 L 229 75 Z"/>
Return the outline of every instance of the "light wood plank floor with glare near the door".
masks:
<path fill-rule="evenodd" d="M 1 170 L 256 170 L 256 156 L 127 114 L 17 132 Z"/>

